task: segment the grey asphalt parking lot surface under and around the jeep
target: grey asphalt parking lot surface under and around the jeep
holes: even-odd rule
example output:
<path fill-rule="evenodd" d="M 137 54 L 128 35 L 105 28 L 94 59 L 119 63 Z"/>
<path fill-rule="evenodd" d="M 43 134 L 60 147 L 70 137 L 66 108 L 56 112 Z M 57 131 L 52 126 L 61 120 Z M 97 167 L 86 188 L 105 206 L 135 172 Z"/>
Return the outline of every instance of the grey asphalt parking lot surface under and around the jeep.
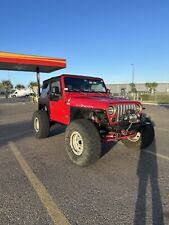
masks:
<path fill-rule="evenodd" d="M 65 128 L 37 140 L 36 105 L 0 103 L 1 225 L 169 224 L 169 107 L 146 105 L 156 138 L 144 151 L 103 145 L 92 166 L 71 163 Z"/>

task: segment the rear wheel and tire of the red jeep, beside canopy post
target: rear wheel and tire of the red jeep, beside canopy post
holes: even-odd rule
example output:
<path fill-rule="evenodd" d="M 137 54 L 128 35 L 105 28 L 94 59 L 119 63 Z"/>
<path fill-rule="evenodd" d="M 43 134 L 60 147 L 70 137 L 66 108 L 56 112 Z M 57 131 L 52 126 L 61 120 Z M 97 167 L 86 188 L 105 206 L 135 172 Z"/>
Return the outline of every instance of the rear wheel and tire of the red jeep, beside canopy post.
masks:
<path fill-rule="evenodd" d="M 33 114 L 33 130 L 36 138 L 46 138 L 49 136 L 49 118 L 46 111 L 38 110 Z"/>

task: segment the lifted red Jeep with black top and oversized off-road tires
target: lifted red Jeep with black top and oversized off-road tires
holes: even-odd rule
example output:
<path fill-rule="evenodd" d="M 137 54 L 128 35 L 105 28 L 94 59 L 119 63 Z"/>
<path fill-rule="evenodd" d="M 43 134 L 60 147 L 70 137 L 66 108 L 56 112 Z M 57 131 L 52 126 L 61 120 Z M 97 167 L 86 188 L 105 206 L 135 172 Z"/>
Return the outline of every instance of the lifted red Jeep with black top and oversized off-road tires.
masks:
<path fill-rule="evenodd" d="M 49 136 L 53 123 L 67 125 L 65 147 L 79 166 L 99 159 L 101 141 L 121 140 L 129 148 L 142 149 L 154 138 L 141 103 L 113 99 L 101 78 L 61 75 L 45 80 L 38 107 L 33 115 L 35 136 Z"/>

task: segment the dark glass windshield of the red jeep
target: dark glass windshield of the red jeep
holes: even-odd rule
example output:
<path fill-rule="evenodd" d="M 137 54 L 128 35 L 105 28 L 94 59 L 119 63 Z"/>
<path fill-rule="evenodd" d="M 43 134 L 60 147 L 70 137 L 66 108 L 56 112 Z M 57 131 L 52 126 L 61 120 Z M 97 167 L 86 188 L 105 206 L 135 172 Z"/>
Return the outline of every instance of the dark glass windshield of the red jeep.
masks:
<path fill-rule="evenodd" d="M 106 93 L 106 87 L 101 79 L 65 77 L 65 91 L 68 92 L 100 92 Z"/>

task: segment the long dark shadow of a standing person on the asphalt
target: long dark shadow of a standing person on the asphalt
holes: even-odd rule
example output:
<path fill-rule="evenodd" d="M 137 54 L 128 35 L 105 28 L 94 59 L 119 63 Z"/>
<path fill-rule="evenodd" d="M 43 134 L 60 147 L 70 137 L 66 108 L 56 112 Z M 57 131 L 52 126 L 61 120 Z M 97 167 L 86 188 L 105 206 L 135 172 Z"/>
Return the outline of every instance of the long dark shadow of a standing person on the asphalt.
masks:
<path fill-rule="evenodd" d="M 152 202 L 152 225 L 164 225 L 163 208 L 161 201 L 160 188 L 158 183 L 158 164 L 156 156 L 156 141 L 146 150 L 140 152 L 138 162 L 137 175 L 138 175 L 138 193 L 135 206 L 134 225 L 145 225 L 147 209 L 147 189 L 148 182 L 151 187 L 151 202 Z"/>

